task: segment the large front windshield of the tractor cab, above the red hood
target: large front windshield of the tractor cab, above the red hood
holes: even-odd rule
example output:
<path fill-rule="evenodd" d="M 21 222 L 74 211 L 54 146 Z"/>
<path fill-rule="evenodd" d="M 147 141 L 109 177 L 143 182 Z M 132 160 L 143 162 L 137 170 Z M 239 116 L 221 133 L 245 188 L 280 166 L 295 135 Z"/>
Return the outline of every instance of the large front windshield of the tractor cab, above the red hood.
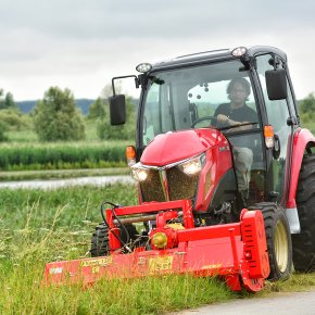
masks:
<path fill-rule="evenodd" d="M 217 115 L 219 105 L 230 103 L 231 94 L 228 92 L 228 86 L 236 78 L 244 78 L 248 81 L 249 94 L 245 96 L 244 102 L 256 116 L 249 74 L 240 61 L 152 74 L 149 77 L 142 116 L 143 146 L 159 134 L 209 127 L 213 124 L 209 116 Z M 218 111 L 222 109 L 223 106 Z M 209 118 L 202 121 L 203 117 Z M 198 119 L 200 122 L 194 124 Z M 254 123 L 252 121 L 257 122 L 257 117 L 245 121 Z M 234 129 L 231 128 L 230 131 Z"/>

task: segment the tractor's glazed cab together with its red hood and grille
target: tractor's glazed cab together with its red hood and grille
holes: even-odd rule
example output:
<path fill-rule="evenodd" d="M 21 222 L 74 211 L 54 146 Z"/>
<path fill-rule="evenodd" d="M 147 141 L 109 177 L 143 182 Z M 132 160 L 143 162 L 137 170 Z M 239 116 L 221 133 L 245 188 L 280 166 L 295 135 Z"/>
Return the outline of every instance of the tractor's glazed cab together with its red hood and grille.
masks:
<path fill-rule="evenodd" d="M 138 163 L 131 169 L 141 202 L 187 198 L 194 200 L 196 211 L 220 211 L 226 201 L 238 211 L 264 201 L 286 207 L 286 169 L 299 117 L 284 52 L 270 47 L 237 48 L 137 68 L 142 72 L 136 77 L 142 92 Z M 245 87 L 231 90 L 235 80 Z M 242 98 L 240 89 L 245 89 L 243 105 L 250 115 L 229 108 L 232 99 Z M 113 124 L 124 119 L 123 103 L 122 96 L 111 99 Z M 223 108 L 229 124 L 217 122 Z M 163 162 L 159 154 L 172 159 Z M 182 172 L 181 165 L 190 163 L 200 164 L 196 174 Z"/>

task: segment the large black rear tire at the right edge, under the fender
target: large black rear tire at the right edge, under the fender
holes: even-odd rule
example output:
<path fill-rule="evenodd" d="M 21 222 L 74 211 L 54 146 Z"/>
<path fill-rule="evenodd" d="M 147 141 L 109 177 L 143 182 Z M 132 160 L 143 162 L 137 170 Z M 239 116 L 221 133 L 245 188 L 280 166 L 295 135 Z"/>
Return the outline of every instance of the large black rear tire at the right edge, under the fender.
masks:
<path fill-rule="evenodd" d="M 305 155 L 297 190 L 301 232 L 292 235 L 293 264 L 297 272 L 315 270 L 315 154 Z"/>

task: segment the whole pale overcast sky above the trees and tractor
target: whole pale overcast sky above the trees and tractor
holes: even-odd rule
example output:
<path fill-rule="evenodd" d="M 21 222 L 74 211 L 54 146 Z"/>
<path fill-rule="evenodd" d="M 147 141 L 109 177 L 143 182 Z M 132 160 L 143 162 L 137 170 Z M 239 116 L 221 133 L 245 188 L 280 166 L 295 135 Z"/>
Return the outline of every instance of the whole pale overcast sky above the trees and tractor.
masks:
<path fill-rule="evenodd" d="M 287 53 L 298 99 L 315 91 L 314 0 L 0 0 L 0 38 L 17 101 L 51 86 L 94 99 L 140 62 L 254 45 Z"/>

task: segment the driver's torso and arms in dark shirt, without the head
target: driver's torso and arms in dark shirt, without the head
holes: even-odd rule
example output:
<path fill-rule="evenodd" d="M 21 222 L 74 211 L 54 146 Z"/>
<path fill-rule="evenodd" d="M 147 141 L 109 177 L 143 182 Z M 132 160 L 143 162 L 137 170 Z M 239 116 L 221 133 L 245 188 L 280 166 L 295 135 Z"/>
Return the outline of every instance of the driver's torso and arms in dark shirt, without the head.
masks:
<path fill-rule="evenodd" d="M 220 104 L 215 113 L 214 116 L 217 116 L 219 114 L 226 115 L 228 118 L 235 121 L 235 122 L 248 122 L 248 123 L 255 123 L 257 122 L 257 114 L 254 110 L 249 108 L 247 104 L 244 104 L 242 108 L 231 110 L 230 103 Z M 228 124 L 216 124 L 216 127 L 227 127 Z"/>

